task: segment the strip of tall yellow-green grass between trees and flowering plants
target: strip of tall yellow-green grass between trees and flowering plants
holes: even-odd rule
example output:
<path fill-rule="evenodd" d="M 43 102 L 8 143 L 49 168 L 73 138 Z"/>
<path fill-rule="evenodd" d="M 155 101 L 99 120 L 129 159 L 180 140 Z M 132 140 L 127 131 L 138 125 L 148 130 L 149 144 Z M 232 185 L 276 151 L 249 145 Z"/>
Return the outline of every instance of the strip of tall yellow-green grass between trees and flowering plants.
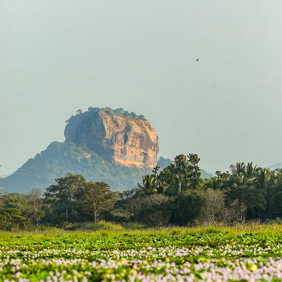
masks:
<path fill-rule="evenodd" d="M 73 230 L 57 227 L 34 228 L 33 230 L 14 230 L 11 232 L 0 231 L 0 245 L 29 244 L 34 242 L 54 240 L 84 240 L 97 237 L 121 238 L 124 234 L 137 236 L 176 235 L 176 236 L 205 236 L 207 234 L 220 234 L 224 238 L 231 238 L 245 233 L 255 233 L 262 236 L 282 237 L 282 224 L 276 222 L 262 223 L 251 221 L 244 224 L 236 223 L 224 226 L 216 223 L 208 226 L 171 226 L 160 228 L 145 228 L 139 224 L 116 224 L 101 221 L 96 225 L 90 222 L 72 226 Z"/>

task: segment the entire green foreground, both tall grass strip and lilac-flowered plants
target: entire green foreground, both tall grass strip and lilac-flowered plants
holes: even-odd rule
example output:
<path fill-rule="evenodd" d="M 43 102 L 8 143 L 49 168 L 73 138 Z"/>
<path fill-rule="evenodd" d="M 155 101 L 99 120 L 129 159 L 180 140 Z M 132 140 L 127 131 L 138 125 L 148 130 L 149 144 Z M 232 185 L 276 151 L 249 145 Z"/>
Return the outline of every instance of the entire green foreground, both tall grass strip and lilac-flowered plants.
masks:
<path fill-rule="evenodd" d="M 0 281 L 281 281 L 282 226 L 0 232 Z"/>

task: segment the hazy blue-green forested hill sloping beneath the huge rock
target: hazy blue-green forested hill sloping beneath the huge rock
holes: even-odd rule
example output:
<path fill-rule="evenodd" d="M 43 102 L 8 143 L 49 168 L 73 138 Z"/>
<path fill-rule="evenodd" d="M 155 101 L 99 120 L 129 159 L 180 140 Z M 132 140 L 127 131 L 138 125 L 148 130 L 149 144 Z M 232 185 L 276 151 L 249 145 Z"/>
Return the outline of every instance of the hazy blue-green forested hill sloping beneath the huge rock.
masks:
<path fill-rule="evenodd" d="M 173 161 L 159 158 L 162 168 L 170 162 Z M 55 183 L 55 178 L 67 172 L 81 174 L 88 181 L 105 181 L 113 191 L 123 191 L 136 187 L 138 182 L 142 182 L 142 175 L 151 173 L 151 169 L 108 164 L 83 145 L 52 142 L 46 150 L 28 159 L 12 175 L 1 179 L 0 186 L 9 193 L 28 193 L 34 187 L 44 190 Z M 201 172 L 203 178 L 210 177 L 204 170 Z"/>

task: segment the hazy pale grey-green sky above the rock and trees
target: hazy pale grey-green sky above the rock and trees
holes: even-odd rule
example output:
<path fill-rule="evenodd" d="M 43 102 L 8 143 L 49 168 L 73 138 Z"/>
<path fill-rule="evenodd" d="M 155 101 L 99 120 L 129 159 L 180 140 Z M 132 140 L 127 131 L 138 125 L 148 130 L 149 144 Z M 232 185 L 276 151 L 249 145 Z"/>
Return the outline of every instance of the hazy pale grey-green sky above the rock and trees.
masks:
<path fill-rule="evenodd" d="M 1 0 L 0 175 L 64 141 L 65 120 L 89 106 L 143 114 L 158 156 L 197 153 L 210 171 L 281 162 L 281 10 L 281 0 Z"/>

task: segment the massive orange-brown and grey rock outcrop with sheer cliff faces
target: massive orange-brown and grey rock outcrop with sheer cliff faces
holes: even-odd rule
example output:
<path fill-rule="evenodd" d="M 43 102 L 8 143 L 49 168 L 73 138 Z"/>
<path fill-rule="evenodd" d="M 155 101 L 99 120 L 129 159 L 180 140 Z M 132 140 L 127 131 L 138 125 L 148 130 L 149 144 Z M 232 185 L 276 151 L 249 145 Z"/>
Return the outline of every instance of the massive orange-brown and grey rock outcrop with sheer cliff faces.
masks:
<path fill-rule="evenodd" d="M 85 144 L 109 163 L 151 168 L 157 165 L 158 134 L 147 120 L 91 109 L 70 119 L 65 142 Z"/>

